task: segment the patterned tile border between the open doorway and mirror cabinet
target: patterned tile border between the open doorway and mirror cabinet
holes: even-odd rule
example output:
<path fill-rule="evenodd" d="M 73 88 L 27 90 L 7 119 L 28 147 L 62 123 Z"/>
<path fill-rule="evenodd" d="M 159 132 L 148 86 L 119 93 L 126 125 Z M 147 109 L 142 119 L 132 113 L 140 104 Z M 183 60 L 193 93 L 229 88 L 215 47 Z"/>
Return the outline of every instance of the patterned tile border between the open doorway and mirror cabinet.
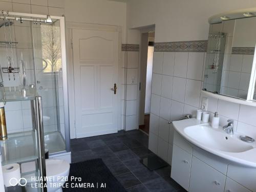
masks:
<path fill-rule="evenodd" d="M 206 52 L 207 40 L 156 42 L 156 52 Z"/>

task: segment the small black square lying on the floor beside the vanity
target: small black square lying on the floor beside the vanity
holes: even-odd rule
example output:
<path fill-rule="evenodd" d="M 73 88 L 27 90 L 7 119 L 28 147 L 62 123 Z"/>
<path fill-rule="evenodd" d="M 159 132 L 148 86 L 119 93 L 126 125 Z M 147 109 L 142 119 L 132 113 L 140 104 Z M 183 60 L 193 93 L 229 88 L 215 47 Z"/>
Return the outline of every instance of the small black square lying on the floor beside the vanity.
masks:
<path fill-rule="evenodd" d="M 155 170 L 168 166 L 168 164 L 164 160 L 157 157 L 156 155 L 148 156 L 144 159 L 141 159 L 140 162 L 150 170 Z"/>

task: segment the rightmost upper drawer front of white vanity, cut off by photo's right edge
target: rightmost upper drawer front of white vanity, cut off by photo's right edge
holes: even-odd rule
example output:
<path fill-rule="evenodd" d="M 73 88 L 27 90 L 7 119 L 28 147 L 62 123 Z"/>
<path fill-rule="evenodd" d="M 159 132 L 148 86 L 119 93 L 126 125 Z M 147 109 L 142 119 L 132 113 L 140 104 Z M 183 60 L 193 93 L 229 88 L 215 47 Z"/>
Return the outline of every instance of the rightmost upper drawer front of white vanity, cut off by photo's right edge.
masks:
<path fill-rule="evenodd" d="M 256 191 L 256 168 L 229 164 L 227 177 L 240 183 L 251 191 Z"/>

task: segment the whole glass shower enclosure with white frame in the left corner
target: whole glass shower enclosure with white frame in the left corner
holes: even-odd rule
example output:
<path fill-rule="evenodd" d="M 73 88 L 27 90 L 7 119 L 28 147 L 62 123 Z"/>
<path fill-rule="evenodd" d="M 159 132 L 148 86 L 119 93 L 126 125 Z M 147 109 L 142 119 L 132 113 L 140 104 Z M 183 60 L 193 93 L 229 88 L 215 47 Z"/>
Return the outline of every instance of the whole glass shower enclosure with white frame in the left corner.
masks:
<path fill-rule="evenodd" d="M 64 17 L 2 12 L 0 68 L 6 94 L 26 97 L 34 87 L 41 96 L 50 156 L 70 152 Z M 7 102 L 5 111 L 9 138 L 32 130 L 30 101 Z"/>

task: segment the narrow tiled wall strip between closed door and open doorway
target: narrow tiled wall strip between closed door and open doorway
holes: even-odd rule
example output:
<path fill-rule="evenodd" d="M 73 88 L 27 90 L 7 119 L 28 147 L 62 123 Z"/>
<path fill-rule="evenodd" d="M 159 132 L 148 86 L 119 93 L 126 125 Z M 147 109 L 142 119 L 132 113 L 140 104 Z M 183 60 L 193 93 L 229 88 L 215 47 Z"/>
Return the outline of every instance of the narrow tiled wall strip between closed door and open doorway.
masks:
<path fill-rule="evenodd" d="M 124 55 L 124 97 L 123 97 L 123 129 L 134 130 L 138 126 L 137 93 L 139 71 L 139 45 L 122 45 Z"/>

